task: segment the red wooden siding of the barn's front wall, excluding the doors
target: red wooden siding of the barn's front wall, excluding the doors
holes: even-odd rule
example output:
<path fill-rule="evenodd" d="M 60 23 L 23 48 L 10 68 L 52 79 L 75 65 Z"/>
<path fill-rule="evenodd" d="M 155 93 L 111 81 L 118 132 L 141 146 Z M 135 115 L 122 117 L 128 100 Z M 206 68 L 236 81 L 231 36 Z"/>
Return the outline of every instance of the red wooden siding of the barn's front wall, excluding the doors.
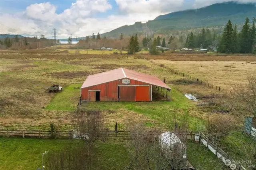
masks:
<path fill-rule="evenodd" d="M 107 83 L 94 85 L 91 87 L 86 87 L 81 89 L 82 100 L 89 101 L 88 98 L 88 90 L 100 90 L 100 101 L 118 101 L 118 85 L 122 85 L 122 79 L 110 81 Z M 136 81 L 130 79 L 130 85 L 149 85 L 148 83 L 144 83 L 141 81 Z M 151 85 L 149 93 L 151 93 Z"/>

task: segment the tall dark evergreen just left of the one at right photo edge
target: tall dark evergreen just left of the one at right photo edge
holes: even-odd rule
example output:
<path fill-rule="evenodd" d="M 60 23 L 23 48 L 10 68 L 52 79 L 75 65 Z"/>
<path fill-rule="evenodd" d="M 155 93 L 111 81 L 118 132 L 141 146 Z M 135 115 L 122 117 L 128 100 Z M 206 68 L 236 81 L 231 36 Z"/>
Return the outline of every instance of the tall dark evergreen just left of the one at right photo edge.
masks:
<path fill-rule="evenodd" d="M 251 32 L 250 32 L 250 24 L 249 18 L 247 17 L 243 28 L 240 32 L 240 52 L 241 53 L 250 53 L 251 50 Z"/>

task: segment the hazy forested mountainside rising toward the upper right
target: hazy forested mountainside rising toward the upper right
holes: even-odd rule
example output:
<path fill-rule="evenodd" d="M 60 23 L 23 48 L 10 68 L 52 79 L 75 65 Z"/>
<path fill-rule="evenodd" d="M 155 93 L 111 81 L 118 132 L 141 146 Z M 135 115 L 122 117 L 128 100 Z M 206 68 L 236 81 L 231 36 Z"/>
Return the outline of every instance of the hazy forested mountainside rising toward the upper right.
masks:
<path fill-rule="evenodd" d="M 197 10 L 185 10 L 158 16 L 146 23 L 136 22 L 134 25 L 122 26 L 101 36 L 118 38 L 121 33 L 129 36 L 134 33 L 169 34 L 176 30 L 189 30 L 199 27 L 224 26 L 228 20 L 233 24 L 243 24 L 244 19 L 256 17 L 255 4 L 238 4 L 227 2 L 213 4 Z"/>

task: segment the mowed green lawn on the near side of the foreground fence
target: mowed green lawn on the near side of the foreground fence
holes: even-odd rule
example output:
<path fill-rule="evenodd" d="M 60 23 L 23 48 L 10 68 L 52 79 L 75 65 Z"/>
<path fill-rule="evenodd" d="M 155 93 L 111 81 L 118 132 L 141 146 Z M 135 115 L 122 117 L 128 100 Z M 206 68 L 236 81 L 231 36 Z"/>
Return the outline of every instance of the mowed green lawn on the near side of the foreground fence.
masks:
<path fill-rule="evenodd" d="M 50 140 L 29 138 L 0 138 L 1 170 L 36 170 L 42 168 L 42 153 L 55 152 L 68 144 L 81 140 Z M 129 152 L 126 148 L 128 140 L 108 139 L 105 142 L 96 140 L 95 153 L 100 164 L 98 170 L 120 170 L 129 165 Z M 223 163 L 204 146 L 189 141 L 187 144 L 188 159 L 197 169 L 220 170 Z M 44 164 L 47 161 L 44 156 Z"/>

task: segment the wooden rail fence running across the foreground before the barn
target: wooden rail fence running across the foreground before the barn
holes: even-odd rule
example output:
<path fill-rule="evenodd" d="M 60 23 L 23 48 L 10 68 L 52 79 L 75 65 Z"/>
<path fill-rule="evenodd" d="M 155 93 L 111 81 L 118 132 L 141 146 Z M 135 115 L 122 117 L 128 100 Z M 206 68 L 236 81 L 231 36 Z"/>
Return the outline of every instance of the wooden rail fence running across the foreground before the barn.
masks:
<path fill-rule="evenodd" d="M 158 137 L 161 133 L 160 131 L 148 131 L 142 132 L 146 136 L 156 136 Z M 142 135 L 143 135 L 142 134 Z M 193 139 L 198 132 L 176 132 L 176 134 L 186 136 L 187 139 Z M 130 139 L 133 133 L 130 131 L 101 131 L 98 134 L 98 137 L 103 138 L 124 138 Z M 47 130 L 9 130 L 9 129 L 0 129 L 0 136 L 2 137 L 23 137 L 23 138 L 50 138 L 50 131 Z M 56 131 L 57 138 L 76 138 L 78 135 L 75 134 L 74 130 L 66 130 L 66 131 Z"/>

